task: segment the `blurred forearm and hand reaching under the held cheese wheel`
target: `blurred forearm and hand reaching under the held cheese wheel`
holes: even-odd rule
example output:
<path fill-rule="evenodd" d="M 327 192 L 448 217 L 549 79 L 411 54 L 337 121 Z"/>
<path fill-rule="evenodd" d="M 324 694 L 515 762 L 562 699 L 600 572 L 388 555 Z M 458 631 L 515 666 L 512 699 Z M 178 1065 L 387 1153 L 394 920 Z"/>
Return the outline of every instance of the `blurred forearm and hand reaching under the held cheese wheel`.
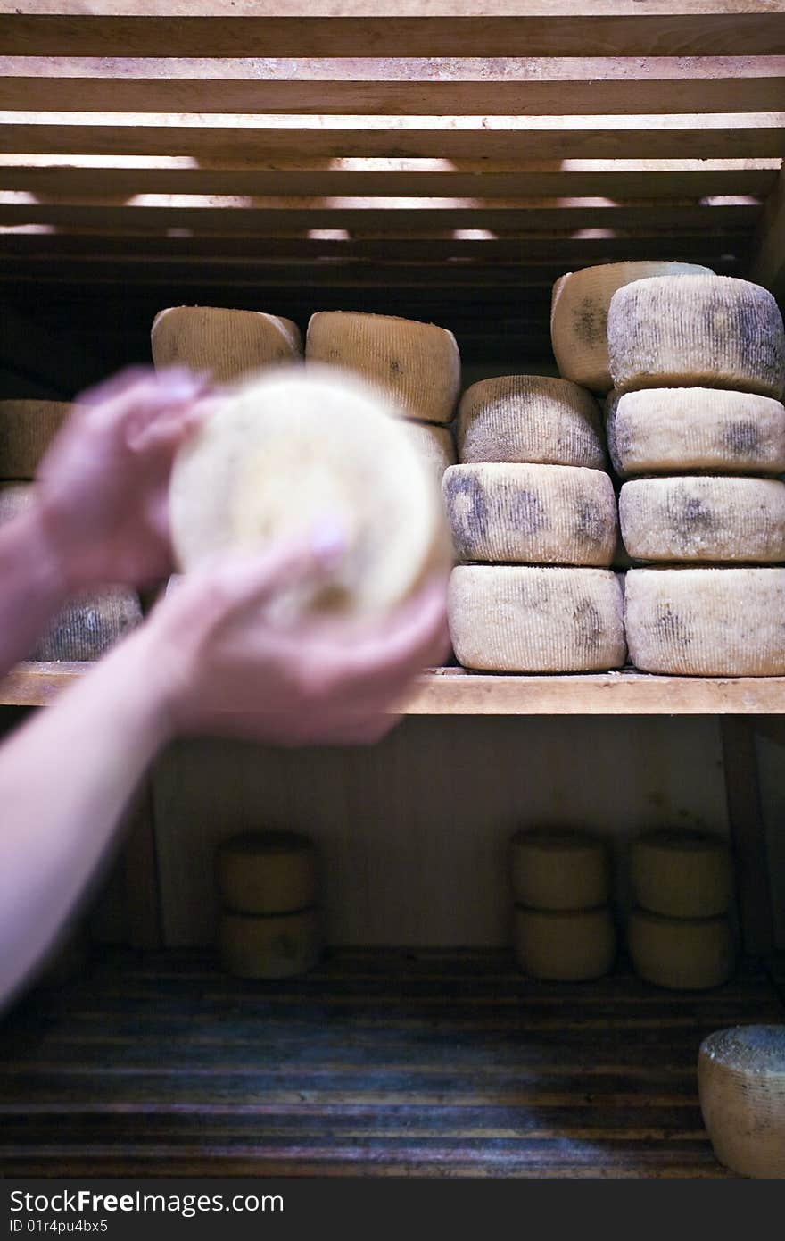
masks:
<path fill-rule="evenodd" d="M 182 580 L 0 750 L 0 1004 L 67 921 L 148 763 L 179 733 L 279 745 L 372 742 L 410 678 L 443 658 L 445 582 L 362 628 L 265 618 L 282 587 L 335 565 L 335 539 L 228 560 Z"/>

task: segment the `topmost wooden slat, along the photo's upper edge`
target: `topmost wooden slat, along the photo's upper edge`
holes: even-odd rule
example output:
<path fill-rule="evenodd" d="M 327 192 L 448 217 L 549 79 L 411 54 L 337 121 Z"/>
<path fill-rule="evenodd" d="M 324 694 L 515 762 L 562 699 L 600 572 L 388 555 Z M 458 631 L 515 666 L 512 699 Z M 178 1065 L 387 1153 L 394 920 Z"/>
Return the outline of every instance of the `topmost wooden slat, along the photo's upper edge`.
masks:
<path fill-rule="evenodd" d="M 785 51 L 781 14 L 765 2 L 370 2 L 0 5 L 14 55 L 683 56 Z"/>

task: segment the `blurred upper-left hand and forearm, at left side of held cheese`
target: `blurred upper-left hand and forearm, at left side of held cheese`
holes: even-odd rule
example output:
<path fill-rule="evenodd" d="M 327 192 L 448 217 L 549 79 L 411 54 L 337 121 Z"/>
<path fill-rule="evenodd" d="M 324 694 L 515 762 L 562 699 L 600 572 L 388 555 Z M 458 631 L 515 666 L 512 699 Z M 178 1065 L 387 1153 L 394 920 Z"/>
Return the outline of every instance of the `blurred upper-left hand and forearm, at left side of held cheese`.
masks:
<path fill-rule="evenodd" d="M 169 474 L 203 390 L 185 370 L 138 369 L 77 398 L 31 506 L 0 527 L 0 676 L 77 591 L 170 572 Z"/>

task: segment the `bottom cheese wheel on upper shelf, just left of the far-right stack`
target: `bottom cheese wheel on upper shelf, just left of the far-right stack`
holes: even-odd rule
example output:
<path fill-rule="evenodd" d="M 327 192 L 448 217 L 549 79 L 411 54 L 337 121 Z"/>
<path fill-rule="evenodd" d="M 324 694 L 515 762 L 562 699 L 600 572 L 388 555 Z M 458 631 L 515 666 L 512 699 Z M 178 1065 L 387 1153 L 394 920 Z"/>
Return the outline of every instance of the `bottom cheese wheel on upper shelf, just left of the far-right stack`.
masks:
<path fill-rule="evenodd" d="M 448 591 L 459 664 L 487 673 L 621 668 L 623 597 L 608 568 L 459 565 Z"/>

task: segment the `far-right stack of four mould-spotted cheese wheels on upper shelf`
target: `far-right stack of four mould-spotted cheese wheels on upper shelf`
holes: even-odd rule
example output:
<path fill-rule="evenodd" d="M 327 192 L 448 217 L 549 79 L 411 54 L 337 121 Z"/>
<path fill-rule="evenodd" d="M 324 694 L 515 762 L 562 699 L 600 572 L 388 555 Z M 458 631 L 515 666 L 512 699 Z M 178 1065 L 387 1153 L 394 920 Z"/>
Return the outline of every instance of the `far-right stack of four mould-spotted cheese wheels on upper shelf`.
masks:
<path fill-rule="evenodd" d="M 614 293 L 608 442 L 630 658 L 649 673 L 785 674 L 785 333 L 771 294 L 723 276 Z"/>

